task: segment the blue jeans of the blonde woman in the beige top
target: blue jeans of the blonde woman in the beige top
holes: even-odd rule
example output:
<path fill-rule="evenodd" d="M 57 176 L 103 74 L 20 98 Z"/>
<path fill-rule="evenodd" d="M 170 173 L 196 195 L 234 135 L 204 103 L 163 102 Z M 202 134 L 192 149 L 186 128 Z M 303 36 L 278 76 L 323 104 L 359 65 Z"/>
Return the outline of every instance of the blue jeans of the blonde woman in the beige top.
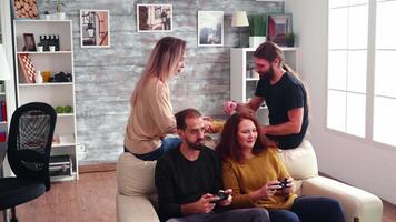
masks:
<path fill-rule="evenodd" d="M 149 153 L 145 153 L 145 154 L 135 154 L 135 153 L 132 153 L 132 154 L 140 160 L 154 161 L 154 160 L 157 160 L 158 158 L 160 158 L 161 155 L 164 155 L 165 153 L 167 153 L 176 148 L 179 148 L 181 142 L 182 141 L 180 138 L 165 138 L 162 140 L 161 147 L 159 147 L 158 149 L 156 149 Z"/>

